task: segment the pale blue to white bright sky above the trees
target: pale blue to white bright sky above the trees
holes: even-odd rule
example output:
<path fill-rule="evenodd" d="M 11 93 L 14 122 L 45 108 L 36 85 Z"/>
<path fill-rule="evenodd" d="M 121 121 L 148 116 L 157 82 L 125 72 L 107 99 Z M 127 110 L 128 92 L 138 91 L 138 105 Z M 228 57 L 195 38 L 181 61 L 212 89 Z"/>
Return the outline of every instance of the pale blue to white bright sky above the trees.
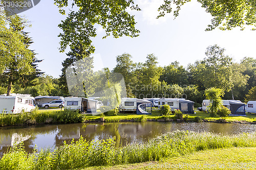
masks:
<path fill-rule="evenodd" d="M 226 49 L 226 55 L 239 62 L 243 57 L 255 57 L 256 32 L 239 28 L 231 31 L 214 30 L 205 32 L 210 24 L 211 16 L 196 1 L 185 4 L 180 15 L 174 20 L 172 14 L 156 19 L 160 0 L 136 1 L 142 11 L 131 11 L 137 21 L 140 36 L 136 38 L 121 37 L 115 39 L 105 35 L 101 27 L 97 29 L 97 37 L 92 38 L 98 58 L 96 66 L 114 68 L 116 56 L 129 53 L 134 62 L 144 62 L 147 54 L 155 54 L 159 65 L 168 65 L 178 61 L 187 66 L 205 57 L 206 47 L 218 44 Z M 61 30 L 58 24 L 66 18 L 58 12 L 53 1 L 41 1 L 34 8 L 21 13 L 30 21 L 32 27 L 27 28 L 34 43 L 38 59 L 44 59 L 39 68 L 46 74 L 58 78 L 61 74 L 61 62 L 67 58 L 66 53 L 59 53 L 59 37 Z M 101 58 L 101 61 L 100 59 Z"/>

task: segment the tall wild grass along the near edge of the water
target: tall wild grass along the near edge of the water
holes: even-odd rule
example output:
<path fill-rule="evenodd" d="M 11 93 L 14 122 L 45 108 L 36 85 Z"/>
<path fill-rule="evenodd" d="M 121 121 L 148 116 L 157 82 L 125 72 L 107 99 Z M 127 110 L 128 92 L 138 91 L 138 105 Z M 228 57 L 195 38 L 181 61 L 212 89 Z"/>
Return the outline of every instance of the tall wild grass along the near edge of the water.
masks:
<path fill-rule="evenodd" d="M 175 131 L 150 139 L 115 148 L 115 137 L 87 141 L 82 137 L 64 144 L 53 152 L 35 151 L 27 154 L 23 147 L 14 147 L 0 160 L 0 169 L 76 169 L 99 165 L 116 165 L 161 160 L 200 150 L 256 147 L 256 133 L 221 135 Z"/>

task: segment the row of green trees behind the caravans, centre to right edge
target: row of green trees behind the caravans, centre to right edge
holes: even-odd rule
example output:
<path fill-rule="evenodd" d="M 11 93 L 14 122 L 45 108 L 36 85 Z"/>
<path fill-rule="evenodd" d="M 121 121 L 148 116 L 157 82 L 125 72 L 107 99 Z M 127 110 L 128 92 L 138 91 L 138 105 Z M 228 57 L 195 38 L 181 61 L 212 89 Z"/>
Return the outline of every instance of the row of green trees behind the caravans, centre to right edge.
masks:
<path fill-rule="evenodd" d="M 153 54 L 145 63 L 133 63 L 131 55 L 123 54 L 117 57 L 113 71 L 124 75 L 130 97 L 183 97 L 201 103 L 205 89 L 217 87 L 225 91 L 224 99 L 251 99 L 247 93 L 256 86 L 256 60 L 245 57 L 238 63 L 224 52 L 218 45 L 209 46 L 203 60 L 187 67 L 177 61 L 157 66 Z"/>

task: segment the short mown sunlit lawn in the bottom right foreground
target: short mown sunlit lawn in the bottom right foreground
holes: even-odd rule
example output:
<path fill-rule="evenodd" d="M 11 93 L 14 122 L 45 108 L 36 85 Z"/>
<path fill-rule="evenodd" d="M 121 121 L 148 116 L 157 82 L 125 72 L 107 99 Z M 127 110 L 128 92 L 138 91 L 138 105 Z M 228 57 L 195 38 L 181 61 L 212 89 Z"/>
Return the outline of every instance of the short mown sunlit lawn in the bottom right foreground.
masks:
<path fill-rule="evenodd" d="M 225 148 L 194 152 L 162 161 L 86 169 L 255 169 L 256 148 Z"/>

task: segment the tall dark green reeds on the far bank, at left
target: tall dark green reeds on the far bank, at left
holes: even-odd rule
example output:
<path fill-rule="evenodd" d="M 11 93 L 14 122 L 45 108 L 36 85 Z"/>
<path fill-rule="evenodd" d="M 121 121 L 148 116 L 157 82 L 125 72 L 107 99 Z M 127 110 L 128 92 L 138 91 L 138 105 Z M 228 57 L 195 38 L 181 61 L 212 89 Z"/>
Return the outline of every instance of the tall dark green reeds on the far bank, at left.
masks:
<path fill-rule="evenodd" d="M 49 123 L 81 123 L 83 116 L 77 111 L 49 111 L 38 112 L 22 112 L 18 114 L 0 114 L 0 126 L 15 125 L 33 125 L 33 124 L 49 124 Z"/>

